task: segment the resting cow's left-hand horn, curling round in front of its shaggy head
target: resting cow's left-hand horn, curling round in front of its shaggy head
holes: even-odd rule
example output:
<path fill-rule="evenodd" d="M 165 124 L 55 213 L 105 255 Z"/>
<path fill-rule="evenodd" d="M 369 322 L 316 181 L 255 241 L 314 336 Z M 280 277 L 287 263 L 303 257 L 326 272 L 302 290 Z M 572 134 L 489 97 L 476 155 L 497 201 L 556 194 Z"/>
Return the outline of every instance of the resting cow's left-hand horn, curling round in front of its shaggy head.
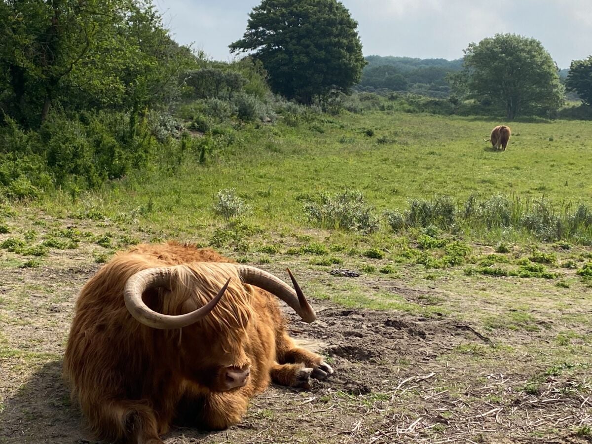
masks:
<path fill-rule="evenodd" d="M 229 278 L 213 300 L 205 304 L 203 307 L 191 311 L 191 313 L 179 314 L 176 316 L 157 313 L 144 303 L 142 300 L 142 293 L 149 288 L 170 288 L 172 278 L 172 268 L 165 267 L 148 268 L 130 276 L 130 278 L 127 279 L 123 296 L 126 301 L 127 310 L 131 313 L 131 316 L 136 318 L 140 323 L 155 329 L 181 329 L 182 327 L 197 322 L 210 313 L 218 301 L 220 301 L 220 298 L 224 294 L 224 291 L 226 291 L 230 282 Z"/>

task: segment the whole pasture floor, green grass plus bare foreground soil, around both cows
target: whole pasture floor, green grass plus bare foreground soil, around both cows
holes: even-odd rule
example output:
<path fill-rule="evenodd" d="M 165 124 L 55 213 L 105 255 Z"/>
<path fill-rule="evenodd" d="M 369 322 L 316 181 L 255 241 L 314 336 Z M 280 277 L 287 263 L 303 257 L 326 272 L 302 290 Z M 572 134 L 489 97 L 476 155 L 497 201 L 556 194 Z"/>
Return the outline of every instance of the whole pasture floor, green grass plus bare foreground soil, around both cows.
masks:
<path fill-rule="evenodd" d="M 321 337 L 336 369 L 309 392 L 270 388 L 240 426 L 176 430 L 168 444 L 589 442 L 592 248 L 483 226 L 395 233 L 383 216 L 442 195 L 590 207 L 589 123 L 511 123 L 494 152 L 483 138 L 499 123 L 368 112 L 249 127 L 205 165 L 190 154 L 175 173 L 5 205 L 0 442 L 93 442 L 59 376 L 76 294 L 116 250 L 166 239 L 282 278 L 289 266 L 319 315 L 292 334 Z M 237 220 L 214 212 L 228 188 L 248 207 Z M 378 230 L 308 220 L 307 198 L 345 189 L 363 193 Z"/>

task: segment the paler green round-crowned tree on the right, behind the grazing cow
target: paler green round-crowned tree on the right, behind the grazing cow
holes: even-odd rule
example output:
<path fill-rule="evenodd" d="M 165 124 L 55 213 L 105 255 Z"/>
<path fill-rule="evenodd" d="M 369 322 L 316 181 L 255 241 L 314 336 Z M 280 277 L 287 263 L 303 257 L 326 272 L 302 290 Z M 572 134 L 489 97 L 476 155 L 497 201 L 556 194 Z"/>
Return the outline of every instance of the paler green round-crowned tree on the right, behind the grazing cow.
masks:
<path fill-rule="evenodd" d="M 509 120 L 556 110 L 564 100 L 558 67 L 534 38 L 496 34 L 469 44 L 463 77 L 469 96 L 503 107 Z"/>

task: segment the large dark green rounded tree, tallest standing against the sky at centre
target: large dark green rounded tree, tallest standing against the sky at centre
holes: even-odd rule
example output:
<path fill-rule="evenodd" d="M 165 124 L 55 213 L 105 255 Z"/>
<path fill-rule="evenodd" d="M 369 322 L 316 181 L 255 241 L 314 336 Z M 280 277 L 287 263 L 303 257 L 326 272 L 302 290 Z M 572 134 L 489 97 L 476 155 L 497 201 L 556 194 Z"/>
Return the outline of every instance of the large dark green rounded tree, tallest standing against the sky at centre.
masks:
<path fill-rule="evenodd" d="M 357 83 L 366 65 L 353 20 L 336 0 L 262 0 L 231 52 L 253 52 L 275 92 L 308 104 Z"/>

